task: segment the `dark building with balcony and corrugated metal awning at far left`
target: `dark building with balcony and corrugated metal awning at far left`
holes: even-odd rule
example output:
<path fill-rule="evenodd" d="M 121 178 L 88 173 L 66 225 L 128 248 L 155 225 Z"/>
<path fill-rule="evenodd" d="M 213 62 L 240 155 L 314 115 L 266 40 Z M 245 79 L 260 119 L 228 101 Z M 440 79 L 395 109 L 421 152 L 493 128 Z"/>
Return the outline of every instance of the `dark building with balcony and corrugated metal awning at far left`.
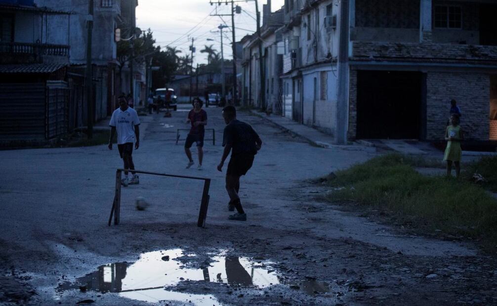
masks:
<path fill-rule="evenodd" d="M 68 131 L 70 14 L 33 1 L 0 1 L 0 146 L 32 145 Z M 63 22 L 56 22 L 64 20 Z"/>

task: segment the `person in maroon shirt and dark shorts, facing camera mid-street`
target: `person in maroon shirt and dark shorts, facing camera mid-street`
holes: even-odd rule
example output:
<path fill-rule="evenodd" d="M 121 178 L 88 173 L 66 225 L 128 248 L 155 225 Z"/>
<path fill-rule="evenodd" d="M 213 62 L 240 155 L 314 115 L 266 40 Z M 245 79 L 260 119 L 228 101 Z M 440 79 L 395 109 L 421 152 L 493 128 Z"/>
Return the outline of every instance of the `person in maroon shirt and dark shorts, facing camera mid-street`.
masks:
<path fill-rule="evenodd" d="M 202 105 L 203 102 L 200 98 L 194 98 L 193 109 L 190 110 L 188 117 L 186 118 L 186 123 L 191 123 L 190 132 L 188 133 L 185 141 L 185 153 L 188 157 L 188 164 L 186 165 L 187 169 L 194 164 L 193 159 L 191 158 L 190 148 L 193 143 L 196 143 L 198 149 L 197 169 L 202 170 L 202 159 L 204 157 L 204 151 L 202 149 L 204 147 L 204 126 L 207 125 L 207 112 L 202 109 Z"/>

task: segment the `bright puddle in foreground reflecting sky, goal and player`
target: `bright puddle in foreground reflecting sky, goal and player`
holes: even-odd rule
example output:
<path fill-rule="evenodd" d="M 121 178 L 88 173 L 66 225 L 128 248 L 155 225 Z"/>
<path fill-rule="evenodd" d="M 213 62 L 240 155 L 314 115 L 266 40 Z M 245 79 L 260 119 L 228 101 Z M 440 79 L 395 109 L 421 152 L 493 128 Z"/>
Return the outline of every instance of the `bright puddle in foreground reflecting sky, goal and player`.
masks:
<path fill-rule="evenodd" d="M 98 271 L 87 274 L 76 283 L 59 285 L 59 292 L 80 289 L 101 293 L 114 292 L 129 299 L 159 302 L 179 301 L 196 305 L 218 305 L 212 295 L 197 295 L 167 291 L 164 287 L 175 286 L 181 281 L 207 281 L 227 283 L 235 286 L 265 288 L 279 284 L 273 271 L 254 267 L 248 258 L 236 256 L 213 256 L 214 262 L 208 268 L 192 269 L 183 267 L 178 260 L 181 249 L 144 253 L 134 263 L 118 262 L 100 266 Z"/>

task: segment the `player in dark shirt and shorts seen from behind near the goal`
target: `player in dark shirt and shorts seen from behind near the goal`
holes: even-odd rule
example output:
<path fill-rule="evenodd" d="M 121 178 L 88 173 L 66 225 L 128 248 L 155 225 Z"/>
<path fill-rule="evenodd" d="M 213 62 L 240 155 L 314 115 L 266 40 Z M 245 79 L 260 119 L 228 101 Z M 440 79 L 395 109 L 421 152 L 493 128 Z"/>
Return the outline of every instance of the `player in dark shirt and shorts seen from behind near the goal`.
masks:
<path fill-rule="evenodd" d="M 262 146 L 259 135 L 252 127 L 237 120 L 237 110 L 234 106 L 223 108 L 223 118 L 226 122 L 223 135 L 224 152 L 221 162 L 217 166 L 219 171 L 223 170 L 224 161 L 231 151 L 228 170 L 226 171 L 226 191 L 230 196 L 229 210 L 237 209 L 238 213 L 229 217 L 230 220 L 247 221 L 247 214 L 242 208 L 238 192 L 240 191 L 240 177 L 247 174 L 252 166 L 257 151 Z"/>

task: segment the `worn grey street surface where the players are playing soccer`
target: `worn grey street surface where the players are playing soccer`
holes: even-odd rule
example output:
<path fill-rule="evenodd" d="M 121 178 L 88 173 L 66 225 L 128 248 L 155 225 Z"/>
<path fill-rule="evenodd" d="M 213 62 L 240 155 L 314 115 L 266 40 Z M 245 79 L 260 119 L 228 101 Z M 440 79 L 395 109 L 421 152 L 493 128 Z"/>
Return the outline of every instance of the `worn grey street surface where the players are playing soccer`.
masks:
<path fill-rule="evenodd" d="M 404 235 L 359 217 L 360 212 L 344 212 L 316 199 L 328 190 L 311 184 L 309 179 L 375 156 L 370 148 L 311 146 L 249 113 L 240 113 L 239 119 L 254 127 L 263 146 L 241 182 L 248 221 L 228 221 L 225 173 L 216 170 L 222 154 L 221 108 L 204 108 L 209 116 L 206 128 L 215 129 L 216 145 L 206 140 L 203 170 L 197 170 L 195 148 L 195 165 L 185 169 L 186 131 L 175 145 L 176 129 L 188 128 L 184 123 L 188 109 L 184 107 L 173 112 L 172 118 L 164 118 L 163 113 L 140 117 L 142 142 L 133 157 L 140 170 L 211 178 L 206 228 L 196 227 L 201 181 L 152 175 L 141 175 L 139 185 L 123 187 L 121 224 L 108 227 L 115 169 L 122 167 L 117 148 L 112 152 L 105 145 L 1 151 L 0 293 L 17 294 L 17 300 L 22 301 L 36 292 L 28 304 L 43 305 L 74 305 L 83 300 L 98 305 L 159 301 L 178 305 L 189 301 L 198 305 L 407 301 L 413 305 L 450 305 L 467 297 L 483 301 L 482 296 L 491 295 L 482 291 L 496 283 L 495 275 L 493 280 L 489 276 L 490 285 L 465 287 L 472 276 L 495 269 L 471 245 Z M 206 139 L 211 139 L 210 131 Z M 138 196 L 150 203 L 145 211 L 134 207 Z M 161 256 L 172 249 L 181 249 L 185 255 L 177 255 L 179 268 L 175 269 L 186 273 L 188 269 L 204 268 L 201 279 L 210 282 L 186 276 L 181 280 L 178 276 L 175 282 L 153 285 L 160 278 L 154 274 L 160 273 L 159 264 L 169 260 L 163 257 L 161 261 Z M 139 275 L 144 280 L 139 288 L 161 287 L 151 289 L 159 290 L 157 296 L 152 291 L 133 296 L 120 290 L 105 293 L 95 288 L 79 289 L 79 278 L 101 265 L 122 262 L 127 262 L 129 274 L 123 277 L 122 290 L 126 286 L 137 289 L 129 283 L 133 267 L 149 260 L 141 254 L 153 251 L 162 251 L 160 262 L 141 268 Z M 175 258 L 170 256 L 171 260 Z M 231 282 L 225 286 L 223 272 L 217 275 L 216 283 L 216 276 L 209 278 L 205 272 L 209 265 L 208 269 L 215 269 L 212 258 L 216 256 L 226 260 L 226 269 L 230 256 L 238 257 L 242 264 L 252 262 L 265 269 L 265 277 L 274 275 L 274 281 L 258 286 L 252 275 L 250 286 Z M 176 263 L 174 260 L 171 262 Z M 447 281 L 440 281 L 442 269 L 449 271 L 443 276 Z M 102 283 L 105 279 L 104 272 Z M 318 282 L 324 282 L 319 283 L 321 289 L 306 290 L 315 288 L 312 286 Z M 162 289 L 164 286 L 166 289 Z M 14 287 L 22 289 L 14 292 Z M 459 292 L 461 288 L 464 291 Z M 489 299 L 489 303 L 497 303 Z"/>

